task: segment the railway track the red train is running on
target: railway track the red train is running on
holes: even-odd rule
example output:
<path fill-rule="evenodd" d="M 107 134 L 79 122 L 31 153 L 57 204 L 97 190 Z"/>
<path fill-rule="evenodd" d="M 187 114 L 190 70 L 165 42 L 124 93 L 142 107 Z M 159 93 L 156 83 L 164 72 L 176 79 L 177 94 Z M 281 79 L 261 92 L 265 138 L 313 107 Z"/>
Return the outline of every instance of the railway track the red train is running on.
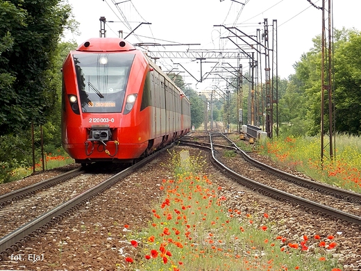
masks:
<path fill-rule="evenodd" d="M 169 147 L 162 149 L 156 152 L 156 154 L 153 154 L 147 158 L 144 158 L 142 161 L 136 163 L 131 167 L 127 167 L 125 170 L 122 170 L 121 172 L 113 176 L 110 176 L 109 178 L 101 181 L 95 186 L 83 190 L 79 194 L 74 195 L 74 197 L 71 197 L 69 195 L 69 198 L 71 197 L 71 199 L 62 202 L 57 206 L 51 207 L 49 211 L 41 211 L 41 215 L 36 215 L 36 217 L 33 217 L 31 221 L 26 222 L 26 224 L 16 225 L 15 229 L 12 229 L 10 233 L 6 233 L 5 236 L 0 238 L 0 261 L 3 261 L 12 253 L 18 251 L 20 247 L 23 247 L 25 243 L 30 241 L 32 238 L 36 238 L 37 236 L 46 233 L 51 227 L 53 227 L 54 224 L 60 222 L 64 217 L 67 217 L 69 214 L 74 213 L 78 208 L 80 208 L 80 206 L 89 202 L 90 199 L 96 197 L 97 195 L 100 195 L 105 190 L 108 190 L 109 188 L 114 186 L 115 183 L 132 174 L 137 169 L 156 158 L 162 152 L 169 149 Z M 13 212 L 15 211 L 15 209 L 17 209 L 19 213 L 27 213 L 24 212 L 24 204 L 26 209 L 28 209 L 28 205 L 26 205 L 26 203 L 24 202 L 20 203 L 22 199 L 26 200 L 28 199 L 27 197 L 30 197 L 31 195 L 39 197 L 36 192 L 39 192 L 40 190 L 44 191 L 44 189 L 49 188 L 54 184 L 69 180 L 83 173 L 83 170 L 72 170 L 67 174 L 62 174 L 62 176 L 54 177 L 50 180 L 43 181 L 28 188 L 22 188 L 15 192 L 10 192 L 6 195 L 3 195 L 1 196 L 3 208 L 0 209 L 0 212 L 2 211 L 3 215 L 6 215 L 6 213 L 9 213 L 11 211 Z M 78 186 L 78 184 L 76 184 L 76 186 Z M 15 202 L 15 205 L 10 205 L 11 202 Z M 31 205 L 34 206 L 34 202 L 32 202 Z M 6 210 L 6 208 L 8 209 Z"/>

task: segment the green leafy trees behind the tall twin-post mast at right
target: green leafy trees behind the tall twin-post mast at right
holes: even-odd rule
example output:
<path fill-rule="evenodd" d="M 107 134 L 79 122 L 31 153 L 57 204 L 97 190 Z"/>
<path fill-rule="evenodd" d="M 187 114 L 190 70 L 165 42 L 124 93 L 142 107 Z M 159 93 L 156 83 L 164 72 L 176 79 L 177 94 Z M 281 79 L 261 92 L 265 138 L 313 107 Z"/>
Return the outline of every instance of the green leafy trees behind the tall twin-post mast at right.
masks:
<path fill-rule="evenodd" d="M 333 102 L 337 132 L 361 133 L 361 34 L 355 29 L 335 30 L 335 81 Z M 285 97 L 280 99 L 281 129 L 289 134 L 307 132 L 315 136 L 321 131 L 321 37 L 313 40 L 314 47 L 294 65 L 296 74 L 290 77 Z M 328 131 L 328 92 L 324 92 L 324 130 Z M 297 124 L 298 123 L 298 124 Z M 302 125 L 304 129 L 295 129 Z"/>

